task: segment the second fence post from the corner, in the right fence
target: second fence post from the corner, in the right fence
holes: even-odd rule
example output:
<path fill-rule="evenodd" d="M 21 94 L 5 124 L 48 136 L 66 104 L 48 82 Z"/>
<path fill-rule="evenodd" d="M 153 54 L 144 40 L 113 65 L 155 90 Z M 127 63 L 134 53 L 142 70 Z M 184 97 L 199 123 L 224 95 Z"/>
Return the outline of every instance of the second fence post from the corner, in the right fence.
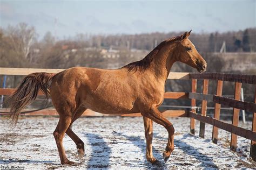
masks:
<path fill-rule="evenodd" d="M 203 85 L 203 94 L 208 94 L 208 83 L 209 83 L 209 80 L 205 79 L 204 85 Z M 206 116 L 206 110 L 207 110 L 207 101 L 203 100 L 202 108 L 201 108 L 202 116 Z M 205 123 L 204 122 L 200 122 L 199 137 L 201 137 L 201 138 L 205 137 Z"/>

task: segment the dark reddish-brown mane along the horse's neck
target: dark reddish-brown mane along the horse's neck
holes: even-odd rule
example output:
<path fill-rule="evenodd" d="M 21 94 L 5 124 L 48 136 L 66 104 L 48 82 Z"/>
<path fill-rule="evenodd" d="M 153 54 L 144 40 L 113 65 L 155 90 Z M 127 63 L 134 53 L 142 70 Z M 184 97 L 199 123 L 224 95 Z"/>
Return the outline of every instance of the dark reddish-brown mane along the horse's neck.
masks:
<path fill-rule="evenodd" d="M 173 38 L 169 38 L 164 40 L 163 42 L 161 42 L 156 48 L 154 48 L 149 54 L 147 54 L 145 56 L 145 58 L 143 58 L 140 61 L 135 61 L 135 62 L 131 62 L 128 65 L 124 66 L 124 68 L 127 68 L 129 72 L 131 71 L 145 71 L 146 68 L 148 68 L 150 66 L 150 63 L 152 62 L 154 56 L 156 56 L 158 54 L 158 52 L 160 51 L 160 49 L 166 44 L 166 42 L 171 42 L 171 41 L 176 41 L 176 40 L 180 40 L 180 37 L 173 37 Z"/>

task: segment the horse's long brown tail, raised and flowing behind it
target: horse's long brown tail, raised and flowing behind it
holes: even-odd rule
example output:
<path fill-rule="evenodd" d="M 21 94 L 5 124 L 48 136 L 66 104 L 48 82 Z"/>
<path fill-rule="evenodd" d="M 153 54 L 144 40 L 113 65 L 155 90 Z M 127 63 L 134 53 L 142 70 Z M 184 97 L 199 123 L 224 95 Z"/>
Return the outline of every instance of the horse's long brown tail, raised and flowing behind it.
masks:
<path fill-rule="evenodd" d="M 50 97 L 49 82 L 54 75 L 51 73 L 32 73 L 23 79 L 15 93 L 5 101 L 10 106 L 11 125 L 16 126 L 21 110 L 36 99 L 39 89 L 43 91 L 47 99 Z"/>

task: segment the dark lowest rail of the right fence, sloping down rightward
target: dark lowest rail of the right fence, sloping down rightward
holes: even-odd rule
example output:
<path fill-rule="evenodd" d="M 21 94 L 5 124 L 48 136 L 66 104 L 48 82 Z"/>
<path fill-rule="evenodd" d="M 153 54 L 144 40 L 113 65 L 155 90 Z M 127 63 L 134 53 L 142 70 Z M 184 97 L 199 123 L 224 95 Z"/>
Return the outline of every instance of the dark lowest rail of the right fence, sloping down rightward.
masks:
<path fill-rule="evenodd" d="M 197 119 L 198 121 L 202 121 L 208 124 L 211 124 L 219 129 L 223 129 L 225 131 L 231 132 L 233 134 L 236 134 L 238 136 L 244 137 L 246 139 L 250 140 L 256 140 L 256 132 L 247 130 L 232 124 L 225 123 L 223 121 L 219 121 L 215 118 L 208 117 L 208 116 L 202 116 L 198 115 L 192 111 L 188 111 L 188 116 L 193 117 L 194 119 Z"/>

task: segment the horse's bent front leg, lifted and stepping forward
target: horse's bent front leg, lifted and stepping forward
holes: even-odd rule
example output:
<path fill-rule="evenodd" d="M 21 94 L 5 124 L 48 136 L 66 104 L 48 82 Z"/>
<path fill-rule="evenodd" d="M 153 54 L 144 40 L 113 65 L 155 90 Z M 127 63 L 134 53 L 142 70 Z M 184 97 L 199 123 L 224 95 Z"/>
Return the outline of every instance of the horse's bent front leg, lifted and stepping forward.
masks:
<path fill-rule="evenodd" d="M 161 112 L 156 107 L 142 111 L 142 116 L 150 118 L 152 119 L 152 121 L 160 125 L 163 125 L 165 129 L 168 131 L 168 143 L 165 148 L 165 151 L 163 152 L 163 158 L 164 161 L 166 162 L 169 159 L 172 151 L 174 150 L 174 128 L 172 123 L 169 122 L 163 115 L 161 115 Z"/>

